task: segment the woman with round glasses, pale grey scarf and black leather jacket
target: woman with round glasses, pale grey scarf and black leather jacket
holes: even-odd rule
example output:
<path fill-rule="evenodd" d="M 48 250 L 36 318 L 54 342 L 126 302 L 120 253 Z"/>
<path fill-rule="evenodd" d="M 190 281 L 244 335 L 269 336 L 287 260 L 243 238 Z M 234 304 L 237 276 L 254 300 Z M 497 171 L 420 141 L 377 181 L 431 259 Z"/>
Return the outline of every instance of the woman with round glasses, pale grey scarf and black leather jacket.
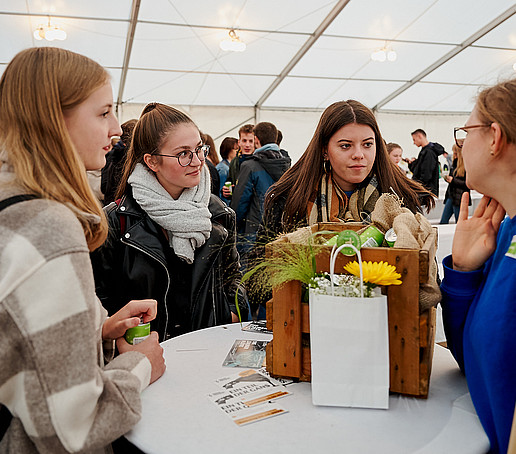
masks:
<path fill-rule="evenodd" d="M 133 132 L 109 236 L 92 254 L 97 294 L 112 313 L 129 298 L 158 301 L 161 340 L 247 320 L 235 213 L 210 193 L 209 147 L 184 113 L 148 104 Z M 152 326 L 154 324 L 154 326 Z"/>

